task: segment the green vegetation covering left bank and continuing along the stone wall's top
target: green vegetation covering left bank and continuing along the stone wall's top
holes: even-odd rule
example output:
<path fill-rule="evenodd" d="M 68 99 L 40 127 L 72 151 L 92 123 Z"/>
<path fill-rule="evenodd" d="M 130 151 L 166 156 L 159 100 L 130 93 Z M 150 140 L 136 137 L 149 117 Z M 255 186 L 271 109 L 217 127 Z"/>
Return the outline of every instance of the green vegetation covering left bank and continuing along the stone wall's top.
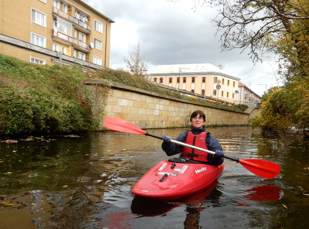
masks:
<path fill-rule="evenodd" d="M 122 70 L 85 72 L 79 67 L 38 65 L 0 55 L 0 134 L 70 133 L 95 129 L 104 108 L 98 104 L 107 98 L 109 87 L 108 82 L 105 87 L 87 87 L 80 83 L 81 79 L 89 78 L 105 79 L 204 106 L 244 111 L 244 107 L 163 89 L 143 76 Z"/>

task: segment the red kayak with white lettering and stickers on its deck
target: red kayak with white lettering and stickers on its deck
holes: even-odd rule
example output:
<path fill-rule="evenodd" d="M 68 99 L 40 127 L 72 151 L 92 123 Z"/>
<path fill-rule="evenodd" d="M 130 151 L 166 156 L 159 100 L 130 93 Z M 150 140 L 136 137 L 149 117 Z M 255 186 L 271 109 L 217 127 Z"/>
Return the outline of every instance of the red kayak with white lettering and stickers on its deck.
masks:
<path fill-rule="evenodd" d="M 222 173 L 224 166 L 163 160 L 150 169 L 132 189 L 136 196 L 170 200 L 198 192 Z"/>

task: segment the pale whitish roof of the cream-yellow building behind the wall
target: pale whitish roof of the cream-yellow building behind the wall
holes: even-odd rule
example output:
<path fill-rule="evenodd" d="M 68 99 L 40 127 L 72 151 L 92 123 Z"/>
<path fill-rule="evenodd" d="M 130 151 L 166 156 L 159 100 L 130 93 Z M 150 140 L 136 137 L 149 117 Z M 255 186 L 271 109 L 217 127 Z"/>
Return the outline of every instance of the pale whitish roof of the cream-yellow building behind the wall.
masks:
<path fill-rule="evenodd" d="M 233 76 L 228 71 L 220 69 L 211 63 L 158 65 L 150 75 L 220 75 L 240 80 L 240 78 Z"/>

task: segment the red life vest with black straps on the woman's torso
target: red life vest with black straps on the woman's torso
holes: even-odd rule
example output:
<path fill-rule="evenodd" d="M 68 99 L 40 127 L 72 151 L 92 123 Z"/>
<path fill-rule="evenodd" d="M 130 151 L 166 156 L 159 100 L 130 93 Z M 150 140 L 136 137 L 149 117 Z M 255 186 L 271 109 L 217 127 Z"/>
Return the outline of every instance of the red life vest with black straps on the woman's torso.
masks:
<path fill-rule="evenodd" d="M 207 132 L 202 132 L 200 135 L 194 135 L 192 131 L 188 131 L 185 144 L 193 145 L 193 146 L 208 150 L 206 146 L 206 136 L 207 136 Z M 207 162 L 208 161 L 207 156 L 208 156 L 208 153 L 195 150 L 195 149 L 191 149 L 189 147 L 184 146 L 184 152 L 183 152 L 182 157 L 189 158 L 195 161 Z"/>

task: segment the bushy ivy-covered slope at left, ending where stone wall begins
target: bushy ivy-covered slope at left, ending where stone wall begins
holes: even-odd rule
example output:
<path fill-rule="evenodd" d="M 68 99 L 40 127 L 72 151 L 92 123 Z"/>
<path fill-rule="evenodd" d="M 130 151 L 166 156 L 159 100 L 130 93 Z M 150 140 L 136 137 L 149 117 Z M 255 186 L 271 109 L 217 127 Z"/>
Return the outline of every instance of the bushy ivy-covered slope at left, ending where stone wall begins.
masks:
<path fill-rule="evenodd" d="M 93 91 L 80 68 L 38 65 L 0 54 L 0 134 L 95 128 Z"/>

